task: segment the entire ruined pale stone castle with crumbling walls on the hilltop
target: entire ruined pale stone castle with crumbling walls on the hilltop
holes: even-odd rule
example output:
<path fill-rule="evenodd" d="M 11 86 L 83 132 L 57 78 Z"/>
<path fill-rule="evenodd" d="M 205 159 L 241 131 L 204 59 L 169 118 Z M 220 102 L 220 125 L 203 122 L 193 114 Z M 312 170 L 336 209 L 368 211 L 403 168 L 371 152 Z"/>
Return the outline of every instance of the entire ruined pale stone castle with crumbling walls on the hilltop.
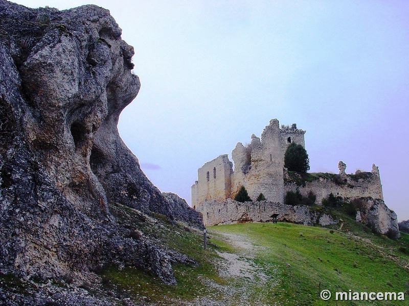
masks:
<path fill-rule="evenodd" d="M 317 205 L 331 193 L 348 199 L 368 197 L 383 201 L 379 170 L 375 165 L 371 172 L 358 170 L 355 174 L 346 174 L 346 164 L 340 161 L 338 174 L 308 173 L 309 180 L 300 184 L 297 180 L 300 174 L 284 168 L 284 154 L 292 142 L 305 148 L 304 134 L 296 124 L 280 127 L 279 121 L 272 119 L 261 138 L 253 134 L 249 144 L 237 143 L 232 151 L 234 168 L 226 154 L 200 167 L 192 186 L 192 207 L 203 215 L 205 225 L 269 221 L 271 213 L 283 207 L 289 191 L 298 190 L 305 197 L 312 192 Z M 241 186 L 253 202 L 232 200 Z M 266 202 L 256 201 L 260 193 Z M 281 218 L 291 215 L 289 210 L 282 211 Z M 303 223 L 310 224 L 307 219 Z"/>

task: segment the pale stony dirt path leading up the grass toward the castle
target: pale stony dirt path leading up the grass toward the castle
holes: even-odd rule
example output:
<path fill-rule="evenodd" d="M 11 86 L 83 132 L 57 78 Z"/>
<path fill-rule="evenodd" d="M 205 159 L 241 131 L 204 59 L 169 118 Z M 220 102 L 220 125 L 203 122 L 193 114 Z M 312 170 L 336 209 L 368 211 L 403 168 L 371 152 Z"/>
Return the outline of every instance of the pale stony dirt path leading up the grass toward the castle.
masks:
<path fill-rule="evenodd" d="M 192 305 L 275 305 L 262 301 L 262 297 L 267 295 L 266 288 L 271 288 L 278 281 L 267 276 L 265 268 L 255 262 L 262 247 L 241 235 L 216 233 L 236 249 L 234 253 L 217 252 L 220 256 L 217 263 L 219 274 L 227 282 L 226 285 L 209 284 L 217 289 L 218 294 L 195 300 Z"/>

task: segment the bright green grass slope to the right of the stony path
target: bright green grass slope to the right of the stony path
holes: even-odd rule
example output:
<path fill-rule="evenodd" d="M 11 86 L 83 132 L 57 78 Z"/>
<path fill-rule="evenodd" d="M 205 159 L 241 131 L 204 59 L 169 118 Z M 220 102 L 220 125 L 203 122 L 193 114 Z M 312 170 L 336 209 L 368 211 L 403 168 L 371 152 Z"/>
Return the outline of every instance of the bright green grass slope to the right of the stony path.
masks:
<path fill-rule="evenodd" d="M 260 246 L 255 264 L 279 279 L 263 300 L 283 305 L 335 305 L 320 292 L 405 292 L 405 301 L 338 301 L 339 305 L 409 305 L 409 235 L 398 240 L 291 223 L 211 226 Z"/>

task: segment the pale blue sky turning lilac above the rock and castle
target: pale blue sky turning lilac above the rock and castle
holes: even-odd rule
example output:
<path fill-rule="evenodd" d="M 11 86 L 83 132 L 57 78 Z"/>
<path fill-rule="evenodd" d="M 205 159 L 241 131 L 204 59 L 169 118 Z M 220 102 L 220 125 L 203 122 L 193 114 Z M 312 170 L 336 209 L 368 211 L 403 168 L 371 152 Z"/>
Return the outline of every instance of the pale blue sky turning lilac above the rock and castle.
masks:
<path fill-rule="evenodd" d="M 307 131 L 310 172 L 379 166 L 409 219 L 409 1 L 15 2 L 110 10 L 142 84 L 119 131 L 161 191 L 190 203 L 199 167 L 277 118 Z"/>

